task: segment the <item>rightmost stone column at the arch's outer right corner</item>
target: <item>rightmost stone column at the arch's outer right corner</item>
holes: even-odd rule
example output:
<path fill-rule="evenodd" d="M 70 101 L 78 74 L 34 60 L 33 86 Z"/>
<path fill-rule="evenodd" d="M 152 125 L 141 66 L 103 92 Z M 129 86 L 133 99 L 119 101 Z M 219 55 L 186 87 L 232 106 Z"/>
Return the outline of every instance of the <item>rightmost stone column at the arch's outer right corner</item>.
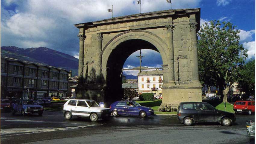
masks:
<path fill-rule="evenodd" d="M 199 82 L 196 25 L 197 25 L 197 22 L 195 22 L 194 20 L 191 20 L 189 23 L 190 35 L 191 35 L 192 59 L 193 59 L 192 82 Z"/>

